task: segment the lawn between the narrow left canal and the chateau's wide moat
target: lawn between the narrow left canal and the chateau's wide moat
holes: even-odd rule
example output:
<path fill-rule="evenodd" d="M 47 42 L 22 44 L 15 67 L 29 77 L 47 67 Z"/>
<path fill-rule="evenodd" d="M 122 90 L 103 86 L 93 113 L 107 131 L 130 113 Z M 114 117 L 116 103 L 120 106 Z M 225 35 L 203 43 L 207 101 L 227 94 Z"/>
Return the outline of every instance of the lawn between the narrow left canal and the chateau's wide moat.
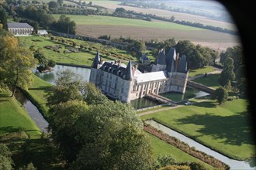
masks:
<path fill-rule="evenodd" d="M 47 100 L 44 95 L 47 93 L 48 88 L 52 85 L 35 75 L 33 75 L 33 79 L 33 83 L 29 86 L 28 93 L 33 100 L 36 101 L 36 104 L 38 104 L 37 107 L 43 112 L 43 114 L 47 114 L 49 108 L 46 105 Z M 47 115 L 44 116 L 47 117 Z"/>

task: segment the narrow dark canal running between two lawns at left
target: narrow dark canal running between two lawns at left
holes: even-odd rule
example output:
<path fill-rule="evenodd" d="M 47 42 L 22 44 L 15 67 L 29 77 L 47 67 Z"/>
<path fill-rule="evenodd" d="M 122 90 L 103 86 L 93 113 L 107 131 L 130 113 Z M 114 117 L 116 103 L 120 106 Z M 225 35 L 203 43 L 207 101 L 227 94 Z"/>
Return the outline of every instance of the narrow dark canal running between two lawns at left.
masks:
<path fill-rule="evenodd" d="M 32 118 L 32 120 L 36 123 L 36 125 L 40 128 L 41 131 L 47 132 L 48 122 L 44 119 L 40 111 L 36 108 L 35 105 L 31 103 L 30 100 L 26 98 L 26 96 L 19 90 L 16 90 L 15 93 L 16 99 L 25 107 L 26 112 Z"/>

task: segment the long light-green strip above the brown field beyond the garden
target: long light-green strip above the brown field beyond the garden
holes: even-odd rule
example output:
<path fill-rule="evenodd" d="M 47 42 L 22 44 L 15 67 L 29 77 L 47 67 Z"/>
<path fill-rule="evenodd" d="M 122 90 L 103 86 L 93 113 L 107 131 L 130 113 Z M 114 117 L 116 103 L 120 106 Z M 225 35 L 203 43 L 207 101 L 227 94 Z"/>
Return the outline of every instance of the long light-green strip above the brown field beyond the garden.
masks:
<path fill-rule="evenodd" d="M 107 25 L 107 26 L 139 26 L 154 29 L 176 29 L 185 31 L 204 30 L 192 26 L 184 26 L 173 22 L 144 21 L 141 19 L 124 19 L 113 16 L 102 15 L 66 15 L 74 20 L 77 25 Z M 59 19 L 60 15 L 54 15 Z"/>

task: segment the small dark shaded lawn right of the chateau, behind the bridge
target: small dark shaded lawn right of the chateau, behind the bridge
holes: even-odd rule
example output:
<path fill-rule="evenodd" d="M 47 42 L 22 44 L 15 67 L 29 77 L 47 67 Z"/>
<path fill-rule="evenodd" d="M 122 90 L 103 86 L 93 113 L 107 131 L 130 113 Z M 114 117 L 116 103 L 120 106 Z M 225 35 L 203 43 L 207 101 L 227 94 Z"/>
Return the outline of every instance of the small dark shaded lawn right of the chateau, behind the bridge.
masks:
<path fill-rule="evenodd" d="M 209 74 L 206 77 L 199 77 L 193 81 L 197 83 L 202 83 L 207 87 L 213 87 L 214 89 L 217 89 L 218 87 L 220 87 L 219 77 L 220 74 Z"/>

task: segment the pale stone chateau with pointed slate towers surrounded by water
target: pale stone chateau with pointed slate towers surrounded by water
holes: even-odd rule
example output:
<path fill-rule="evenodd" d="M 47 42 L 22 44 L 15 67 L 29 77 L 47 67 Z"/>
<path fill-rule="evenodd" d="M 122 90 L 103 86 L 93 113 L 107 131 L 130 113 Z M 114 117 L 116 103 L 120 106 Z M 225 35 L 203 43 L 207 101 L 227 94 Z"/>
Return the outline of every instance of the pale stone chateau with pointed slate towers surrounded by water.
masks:
<path fill-rule="evenodd" d="M 179 57 L 174 48 L 167 55 L 164 49 L 159 51 L 150 73 L 141 73 L 131 61 L 127 66 L 116 61 L 103 62 L 98 51 L 92 63 L 90 82 L 107 96 L 130 102 L 150 93 L 185 93 L 188 74 L 186 56 Z"/>

